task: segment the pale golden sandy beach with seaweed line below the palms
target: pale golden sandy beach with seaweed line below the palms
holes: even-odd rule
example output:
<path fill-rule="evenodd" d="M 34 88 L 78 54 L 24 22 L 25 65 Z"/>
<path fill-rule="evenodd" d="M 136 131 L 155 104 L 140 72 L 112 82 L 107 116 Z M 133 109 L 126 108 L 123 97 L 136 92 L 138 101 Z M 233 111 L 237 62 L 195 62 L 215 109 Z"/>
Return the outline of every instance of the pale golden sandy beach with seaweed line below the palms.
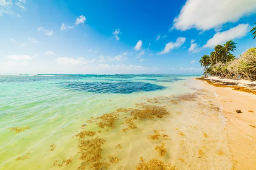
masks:
<path fill-rule="evenodd" d="M 236 90 L 234 87 L 246 87 L 250 81 L 240 80 L 227 81 L 229 79 L 218 79 L 209 77 L 203 80 L 202 87 L 218 95 L 222 113 L 226 119 L 225 133 L 227 135 L 235 170 L 255 170 L 256 168 L 256 96 L 251 93 L 254 91 Z M 217 81 L 216 81 L 217 80 Z M 234 85 L 232 82 L 236 82 Z M 227 85 L 231 83 L 231 85 Z M 253 82 L 253 84 L 256 82 Z M 239 85 L 239 86 L 237 86 Z M 226 88 L 219 88 L 226 87 Z M 233 88 L 233 89 L 232 89 Z M 248 89 L 248 88 L 247 88 Z M 246 93 L 247 92 L 247 93 Z M 256 92 L 256 91 L 255 91 Z M 239 109 L 242 113 L 236 113 Z"/>

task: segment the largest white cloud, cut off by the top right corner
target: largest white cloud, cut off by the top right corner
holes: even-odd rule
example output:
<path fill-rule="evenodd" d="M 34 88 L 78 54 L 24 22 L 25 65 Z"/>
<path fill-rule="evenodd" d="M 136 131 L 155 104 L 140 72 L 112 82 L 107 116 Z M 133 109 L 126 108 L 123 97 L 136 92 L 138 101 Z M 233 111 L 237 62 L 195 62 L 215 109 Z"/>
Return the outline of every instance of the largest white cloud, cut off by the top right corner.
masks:
<path fill-rule="evenodd" d="M 252 13 L 256 13 L 255 0 L 187 0 L 173 21 L 173 28 L 204 31 L 219 28 L 227 22 L 235 23 Z"/>

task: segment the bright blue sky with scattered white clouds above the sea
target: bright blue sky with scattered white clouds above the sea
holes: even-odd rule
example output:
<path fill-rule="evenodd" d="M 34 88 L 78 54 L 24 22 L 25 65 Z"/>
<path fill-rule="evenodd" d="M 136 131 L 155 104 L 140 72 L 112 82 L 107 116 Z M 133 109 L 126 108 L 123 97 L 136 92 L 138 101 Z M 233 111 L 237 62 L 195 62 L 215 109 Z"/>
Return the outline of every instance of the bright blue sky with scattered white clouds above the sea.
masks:
<path fill-rule="evenodd" d="M 255 0 L 0 0 L 0 73 L 202 74 L 255 47 Z"/>

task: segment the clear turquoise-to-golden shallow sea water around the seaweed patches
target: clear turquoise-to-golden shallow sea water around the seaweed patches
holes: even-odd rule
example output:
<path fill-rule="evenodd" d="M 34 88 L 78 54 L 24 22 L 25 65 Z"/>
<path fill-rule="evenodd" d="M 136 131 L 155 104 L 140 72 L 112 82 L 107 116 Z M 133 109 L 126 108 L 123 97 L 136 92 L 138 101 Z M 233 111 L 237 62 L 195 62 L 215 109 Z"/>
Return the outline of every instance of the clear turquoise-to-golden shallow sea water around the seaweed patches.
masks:
<path fill-rule="evenodd" d="M 78 137 L 93 130 L 105 139 L 101 161 L 118 157 L 108 169 L 133 170 L 140 157 L 157 158 L 176 169 L 222 169 L 233 167 L 224 133 L 225 120 L 218 96 L 202 90 L 193 76 L 181 75 L 0 75 L 0 169 L 47 170 L 53 161 L 72 163 L 56 170 L 77 169 L 82 160 Z M 140 105 L 137 105 L 140 104 Z M 116 108 L 154 105 L 165 108 L 163 118 L 134 120 L 137 129 L 123 132 L 128 113 L 119 112 L 116 128 L 86 123 L 91 117 Z M 81 125 L 86 124 L 84 129 Z M 30 127 L 15 133 L 10 127 Z M 154 130 L 169 137 L 148 139 Z M 167 153 L 159 156 L 155 146 L 165 142 Z M 55 149 L 50 151 L 51 144 Z M 116 145 L 121 144 L 122 148 Z M 16 160 L 19 156 L 27 159 Z M 25 158 L 25 157 L 24 157 Z M 89 164 L 88 164 L 89 167 Z M 87 168 L 88 169 L 88 168 Z"/>

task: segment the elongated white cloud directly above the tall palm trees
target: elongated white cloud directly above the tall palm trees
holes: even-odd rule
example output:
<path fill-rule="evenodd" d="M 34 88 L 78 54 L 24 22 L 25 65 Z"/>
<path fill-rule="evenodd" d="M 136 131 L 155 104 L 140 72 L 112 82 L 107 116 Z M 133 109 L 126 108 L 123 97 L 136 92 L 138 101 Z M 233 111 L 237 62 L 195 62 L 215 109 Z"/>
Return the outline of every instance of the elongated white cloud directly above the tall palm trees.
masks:
<path fill-rule="evenodd" d="M 212 48 L 215 45 L 224 44 L 228 40 L 244 37 L 247 32 L 249 32 L 249 24 L 239 24 L 227 31 L 217 32 L 203 47 Z"/>

